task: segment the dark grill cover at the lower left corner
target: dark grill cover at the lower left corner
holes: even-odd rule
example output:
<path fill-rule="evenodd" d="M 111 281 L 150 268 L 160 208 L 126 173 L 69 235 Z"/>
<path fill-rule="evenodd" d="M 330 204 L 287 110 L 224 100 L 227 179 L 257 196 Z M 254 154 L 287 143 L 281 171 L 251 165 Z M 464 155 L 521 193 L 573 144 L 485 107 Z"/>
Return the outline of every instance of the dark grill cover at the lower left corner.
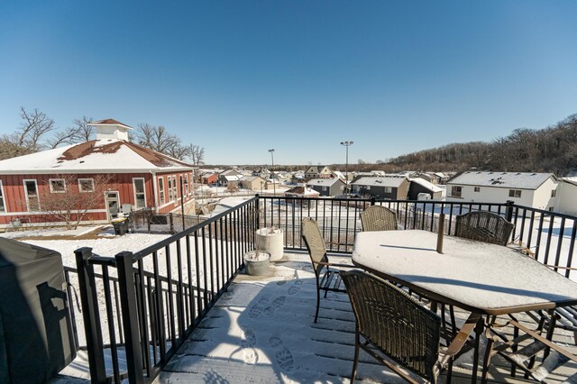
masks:
<path fill-rule="evenodd" d="M 0 383 L 45 382 L 74 345 L 60 253 L 0 238 Z"/>

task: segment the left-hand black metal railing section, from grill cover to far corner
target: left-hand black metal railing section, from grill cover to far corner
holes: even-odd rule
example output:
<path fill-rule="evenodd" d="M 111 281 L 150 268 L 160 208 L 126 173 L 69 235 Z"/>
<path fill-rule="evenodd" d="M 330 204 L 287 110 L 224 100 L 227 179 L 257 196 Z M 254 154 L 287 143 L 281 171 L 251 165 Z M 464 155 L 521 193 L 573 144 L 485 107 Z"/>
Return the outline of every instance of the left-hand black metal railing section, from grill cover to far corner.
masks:
<path fill-rule="evenodd" d="M 93 382 L 158 375 L 243 266 L 258 205 L 252 198 L 135 253 L 75 251 Z"/>

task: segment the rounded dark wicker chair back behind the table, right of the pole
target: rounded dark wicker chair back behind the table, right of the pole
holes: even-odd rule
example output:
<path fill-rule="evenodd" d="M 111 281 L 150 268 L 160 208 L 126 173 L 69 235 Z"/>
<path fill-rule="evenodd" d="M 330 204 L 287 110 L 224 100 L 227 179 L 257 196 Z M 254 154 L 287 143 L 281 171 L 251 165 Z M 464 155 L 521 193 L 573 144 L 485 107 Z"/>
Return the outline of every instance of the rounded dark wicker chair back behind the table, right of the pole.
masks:
<path fill-rule="evenodd" d="M 515 224 L 487 211 L 469 212 L 457 216 L 455 235 L 466 239 L 507 245 Z"/>

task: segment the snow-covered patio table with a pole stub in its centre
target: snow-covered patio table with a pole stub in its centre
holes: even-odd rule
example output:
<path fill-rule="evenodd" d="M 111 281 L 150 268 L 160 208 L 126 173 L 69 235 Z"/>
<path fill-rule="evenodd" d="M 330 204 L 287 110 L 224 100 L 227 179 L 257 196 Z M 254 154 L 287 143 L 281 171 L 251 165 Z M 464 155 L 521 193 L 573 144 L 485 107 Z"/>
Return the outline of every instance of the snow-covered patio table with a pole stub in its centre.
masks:
<path fill-rule="evenodd" d="M 476 378 L 482 315 L 504 315 L 577 304 L 577 283 L 514 249 L 420 230 L 357 233 L 353 264 L 432 300 L 471 313 L 450 348 L 476 329 Z"/>

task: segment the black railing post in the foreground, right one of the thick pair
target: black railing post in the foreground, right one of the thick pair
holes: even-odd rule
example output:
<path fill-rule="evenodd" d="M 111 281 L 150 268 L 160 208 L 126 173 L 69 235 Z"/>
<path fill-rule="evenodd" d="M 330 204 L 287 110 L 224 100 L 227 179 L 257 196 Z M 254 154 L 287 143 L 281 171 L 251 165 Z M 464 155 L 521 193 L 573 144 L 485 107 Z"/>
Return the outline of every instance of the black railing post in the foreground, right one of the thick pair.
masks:
<path fill-rule="evenodd" d="M 123 312 L 128 381 L 131 384 L 143 383 L 138 308 L 136 306 L 136 288 L 134 287 L 133 252 L 120 252 L 114 256 L 114 259 L 116 259 L 116 268 L 118 269 L 118 288 Z"/>

